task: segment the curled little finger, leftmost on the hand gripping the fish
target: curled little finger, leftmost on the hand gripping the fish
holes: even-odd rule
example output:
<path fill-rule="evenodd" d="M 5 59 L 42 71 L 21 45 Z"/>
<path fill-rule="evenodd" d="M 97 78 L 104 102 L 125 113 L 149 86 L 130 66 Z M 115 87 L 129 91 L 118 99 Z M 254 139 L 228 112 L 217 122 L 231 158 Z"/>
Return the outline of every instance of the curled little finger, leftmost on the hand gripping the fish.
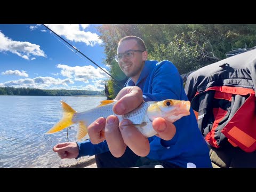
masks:
<path fill-rule="evenodd" d="M 105 140 L 105 123 L 106 119 L 103 117 L 98 118 L 88 127 L 88 134 L 93 144 L 98 144 Z"/>

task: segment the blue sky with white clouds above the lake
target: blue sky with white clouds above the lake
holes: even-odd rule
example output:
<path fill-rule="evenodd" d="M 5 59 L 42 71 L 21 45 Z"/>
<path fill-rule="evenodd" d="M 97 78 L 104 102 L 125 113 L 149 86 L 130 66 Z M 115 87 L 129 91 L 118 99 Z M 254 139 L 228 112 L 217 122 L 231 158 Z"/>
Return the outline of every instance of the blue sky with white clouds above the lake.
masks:
<path fill-rule="evenodd" d="M 109 70 L 103 64 L 104 47 L 95 28 L 99 24 L 45 25 Z M 39 24 L 0 24 L 0 87 L 103 90 L 109 76 L 45 29 Z"/>

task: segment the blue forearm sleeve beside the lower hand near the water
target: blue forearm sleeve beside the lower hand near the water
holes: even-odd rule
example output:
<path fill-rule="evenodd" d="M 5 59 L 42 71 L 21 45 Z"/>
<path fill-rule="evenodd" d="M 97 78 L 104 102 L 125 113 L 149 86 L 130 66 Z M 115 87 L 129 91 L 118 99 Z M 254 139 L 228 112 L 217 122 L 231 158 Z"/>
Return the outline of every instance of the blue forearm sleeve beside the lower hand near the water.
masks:
<path fill-rule="evenodd" d="M 106 141 L 94 145 L 91 143 L 90 139 L 87 139 L 85 141 L 77 142 L 77 145 L 79 147 L 79 155 L 76 158 L 86 155 L 97 155 L 109 151 Z"/>

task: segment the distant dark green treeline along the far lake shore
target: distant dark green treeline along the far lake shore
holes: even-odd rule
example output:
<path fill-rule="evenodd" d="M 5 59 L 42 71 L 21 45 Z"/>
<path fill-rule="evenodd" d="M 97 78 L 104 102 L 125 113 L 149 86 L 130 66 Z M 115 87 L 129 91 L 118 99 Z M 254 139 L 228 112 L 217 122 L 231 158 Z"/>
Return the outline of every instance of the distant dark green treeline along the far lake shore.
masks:
<path fill-rule="evenodd" d="M 41 90 L 31 88 L 0 87 L 0 95 L 35 95 L 35 96 L 104 96 L 104 91 L 86 90 Z"/>

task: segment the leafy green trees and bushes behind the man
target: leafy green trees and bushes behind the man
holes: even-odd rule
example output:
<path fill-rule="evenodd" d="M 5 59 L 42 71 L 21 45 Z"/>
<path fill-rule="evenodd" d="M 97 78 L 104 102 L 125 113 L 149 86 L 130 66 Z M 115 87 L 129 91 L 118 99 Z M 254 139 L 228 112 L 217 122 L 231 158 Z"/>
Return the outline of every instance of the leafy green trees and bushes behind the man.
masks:
<path fill-rule="evenodd" d="M 104 24 L 98 27 L 103 41 L 110 74 L 111 98 L 123 87 L 127 78 L 114 60 L 118 41 L 124 36 L 135 35 L 143 39 L 149 53 L 148 59 L 170 60 L 180 74 L 225 59 L 235 48 L 256 45 L 255 24 Z"/>

